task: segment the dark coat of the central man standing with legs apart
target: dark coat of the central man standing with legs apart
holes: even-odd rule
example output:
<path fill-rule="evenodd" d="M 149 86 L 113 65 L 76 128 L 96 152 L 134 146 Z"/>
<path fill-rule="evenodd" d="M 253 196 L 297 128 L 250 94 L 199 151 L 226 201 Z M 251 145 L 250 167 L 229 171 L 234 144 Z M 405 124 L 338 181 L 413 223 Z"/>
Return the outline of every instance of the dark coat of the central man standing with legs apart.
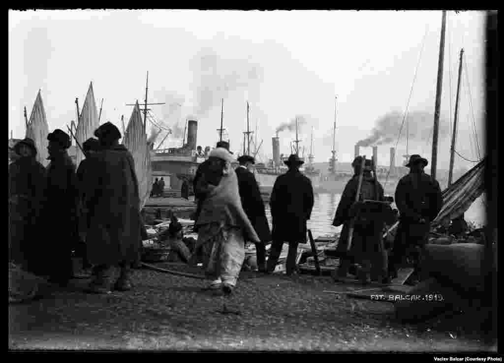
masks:
<path fill-rule="evenodd" d="M 306 221 L 313 208 L 311 181 L 291 169 L 275 180 L 270 196 L 274 241 L 306 243 Z"/>

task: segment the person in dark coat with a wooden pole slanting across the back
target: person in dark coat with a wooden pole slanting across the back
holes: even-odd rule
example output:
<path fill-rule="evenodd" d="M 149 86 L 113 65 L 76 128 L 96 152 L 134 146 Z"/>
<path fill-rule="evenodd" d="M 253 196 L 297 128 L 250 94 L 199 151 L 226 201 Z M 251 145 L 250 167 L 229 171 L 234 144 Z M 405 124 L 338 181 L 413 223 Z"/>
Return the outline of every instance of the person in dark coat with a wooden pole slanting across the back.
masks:
<path fill-rule="evenodd" d="M 385 213 L 392 213 L 390 205 L 377 205 L 379 210 L 369 209 L 363 200 L 385 201 L 384 190 L 372 175 L 372 161 L 366 159 L 362 175 L 359 202 L 355 203 L 362 157 L 352 162 L 354 176 L 348 181 L 336 209 L 333 226 L 343 225 L 336 247 L 340 257 L 340 266 L 334 277 L 346 277 L 352 262 L 362 265 L 359 278 L 362 282 L 375 280 L 387 283 L 387 251 L 383 245 L 383 230 L 386 222 Z M 375 206 L 373 206 L 375 207 Z M 350 251 L 347 252 L 348 234 L 354 220 L 354 232 Z"/>

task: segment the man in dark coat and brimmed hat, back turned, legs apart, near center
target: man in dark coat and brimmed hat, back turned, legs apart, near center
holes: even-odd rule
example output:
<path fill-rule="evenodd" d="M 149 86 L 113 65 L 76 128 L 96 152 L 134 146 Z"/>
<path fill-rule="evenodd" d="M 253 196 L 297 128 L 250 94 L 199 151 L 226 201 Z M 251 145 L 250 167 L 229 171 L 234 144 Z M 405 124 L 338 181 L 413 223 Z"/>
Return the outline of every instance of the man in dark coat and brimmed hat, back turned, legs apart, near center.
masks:
<path fill-rule="evenodd" d="M 267 272 L 275 269 L 284 241 L 289 243 L 286 273 L 296 270 L 297 246 L 306 243 L 306 221 L 313 208 L 313 187 L 308 177 L 301 174 L 303 161 L 296 154 L 284 162 L 289 170 L 280 175 L 273 185 L 270 210 L 273 222 L 272 244 L 266 267 Z"/>

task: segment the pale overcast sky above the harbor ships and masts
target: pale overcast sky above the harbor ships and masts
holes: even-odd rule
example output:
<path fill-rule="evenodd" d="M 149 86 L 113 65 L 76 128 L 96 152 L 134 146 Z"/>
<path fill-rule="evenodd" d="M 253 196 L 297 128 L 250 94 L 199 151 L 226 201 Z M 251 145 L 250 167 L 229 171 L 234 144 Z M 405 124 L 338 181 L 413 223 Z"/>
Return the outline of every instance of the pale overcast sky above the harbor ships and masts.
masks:
<path fill-rule="evenodd" d="M 313 126 L 315 161 L 327 161 L 337 96 L 337 156 L 349 162 L 355 143 L 370 136 L 378 120 L 404 115 L 419 64 L 408 112 L 423 118 L 410 121 L 408 151 L 430 161 L 428 115 L 434 112 L 441 20 L 440 11 L 10 11 L 9 135 L 24 137 L 23 107 L 29 117 L 39 89 L 49 129 L 66 130 L 76 119 L 75 98 L 82 107 L 90 82 L 98 108 L 104 99 L 102 122 L 121 129 L 120 116 L 128 122 L 133 109 L 125 104 L 144 102 L 149 71 L 149 102 L 166 102 L 152 111 L 173 136 L 192 115 L 199 121 L 198 144 L 214 146 L 224 98 L 224 127 L 238 151 L 248 101 L 264 159 L 271 157 L 278 126 L 300 116 L 306 121 L 300 146 L 308 154 Z M 474 121 L 484 154 L 484 20 L 484 12 L 448 12 L 439 168 L 449 163 L 462 47 L 467 68 L 457 151 L 478 159 L 470 137 Z M 388 164 L 396 128 L 394 141 L 379 147 L 380 164 Z M 167 147 L 181 144 L 173 136 Z M 289 154 L 295 133 L 279 136 L 281 152 Z M 399 163 L 405 129 L 397 151 Z M 370 156 L 371 148 L 362 154 Z M 456 168 L 472 165 L 456 158 Z"/>

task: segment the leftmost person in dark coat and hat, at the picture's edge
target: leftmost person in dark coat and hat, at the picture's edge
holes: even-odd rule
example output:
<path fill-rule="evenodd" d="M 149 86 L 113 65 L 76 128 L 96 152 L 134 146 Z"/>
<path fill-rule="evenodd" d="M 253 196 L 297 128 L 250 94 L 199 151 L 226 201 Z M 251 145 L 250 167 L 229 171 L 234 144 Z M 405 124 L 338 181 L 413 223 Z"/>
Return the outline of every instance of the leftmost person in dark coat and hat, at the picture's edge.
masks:
<path fill-rule="evenodd" d="M 37 223 L 45 194 L 45 168 L 36 160 L 31 138 L 14 146 L 19 158 L 9 165 L 9 261 L 30 270 Z"/>

